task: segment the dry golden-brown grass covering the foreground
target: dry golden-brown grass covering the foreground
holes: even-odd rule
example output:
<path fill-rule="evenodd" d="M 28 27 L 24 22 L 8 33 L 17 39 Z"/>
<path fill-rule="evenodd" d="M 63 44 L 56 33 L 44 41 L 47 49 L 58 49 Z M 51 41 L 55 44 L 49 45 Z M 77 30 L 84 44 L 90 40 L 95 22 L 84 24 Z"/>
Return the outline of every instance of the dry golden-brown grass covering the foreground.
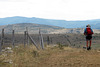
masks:
<path fill-rule="evenodd" d="M 100 51 L 49 46 L 37 50 L 33 46 L 13 49 L 7 56 L 0 55 L 0 67 L 100 67 Z M 13 63 L 5 63 L 10 59 Z"/>

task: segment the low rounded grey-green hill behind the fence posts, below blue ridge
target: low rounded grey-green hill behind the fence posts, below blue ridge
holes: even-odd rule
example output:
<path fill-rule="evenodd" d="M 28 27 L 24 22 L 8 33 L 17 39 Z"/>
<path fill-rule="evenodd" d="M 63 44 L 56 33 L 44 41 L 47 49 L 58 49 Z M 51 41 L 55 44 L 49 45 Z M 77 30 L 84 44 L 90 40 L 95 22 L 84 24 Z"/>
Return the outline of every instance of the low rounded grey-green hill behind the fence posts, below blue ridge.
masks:
<path fill-rule="evenodd" d="M 57 26 L 40 25 L 40 24 L 33 24 L 33 23 L 20 23 L 20 24 L 0 26 L 0 32 L 4 28 L 5 33 L 8 33 L 8 34 L 11 34 L 13 29 L 15 30 L 15 33 L 24 34 L 24 31 L 26 31 L 26 27 L 28 28 L 28 31 L 31 34 L 39 33 L 39 28 L 41 29 L 42 33 L 50 33 L 56 30 L 64 29 Z"/>

